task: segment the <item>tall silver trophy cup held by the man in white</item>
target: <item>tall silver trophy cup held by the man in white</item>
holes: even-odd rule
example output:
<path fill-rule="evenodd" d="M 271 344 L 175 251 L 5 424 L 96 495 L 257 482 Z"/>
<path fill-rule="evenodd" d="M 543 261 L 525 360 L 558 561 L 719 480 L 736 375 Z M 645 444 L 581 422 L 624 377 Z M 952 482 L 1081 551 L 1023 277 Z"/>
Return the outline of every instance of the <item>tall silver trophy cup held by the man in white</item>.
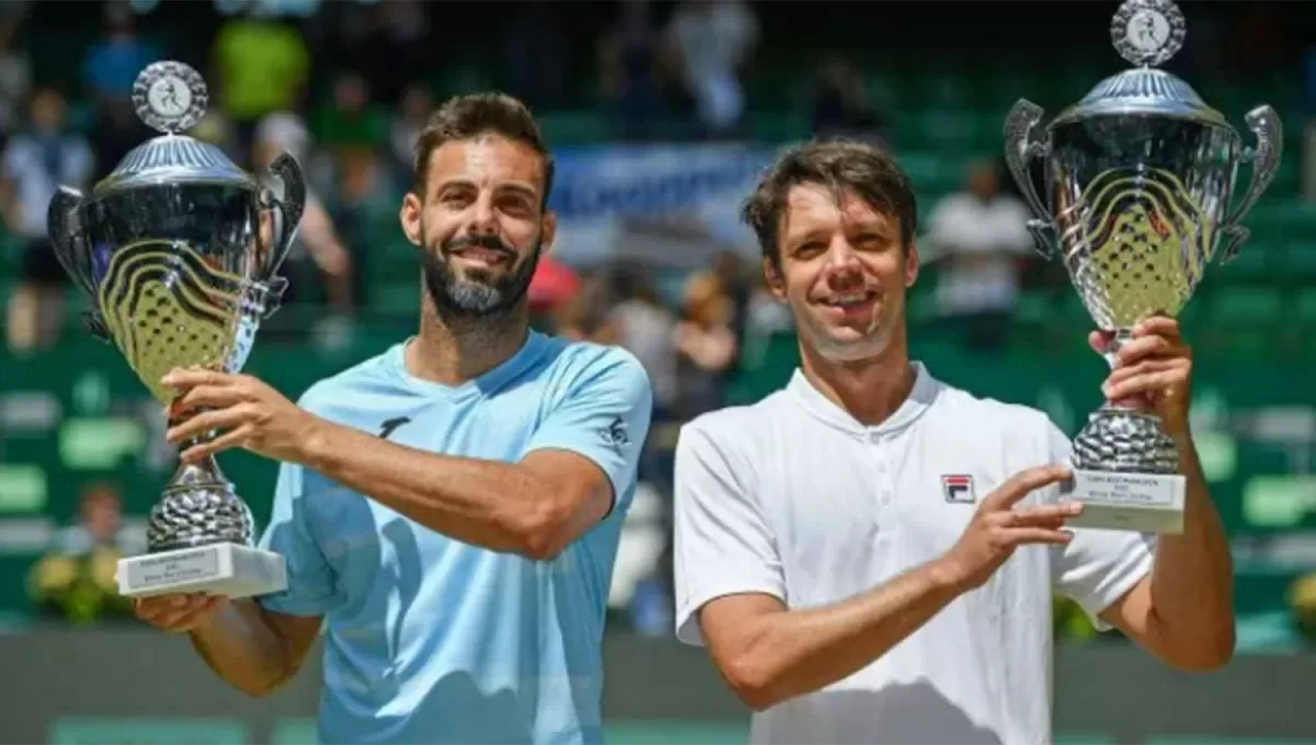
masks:
<path fill-rule="evenodd" d="M 1100 81 L 1041 127 L 1042 109 L 1020 100 L 1005 121 L 1005 162 L 1037 215 L 1029 230 L 1042 254 L 1059 252 L 1083 305 L 1115 348 L 1154 314 L 1177 317 L 1211 259 L 1230 260 L 1249 231 L 1240 225 L 1275 175 L 1279 117 L 1248 113 L 1255 145 L 1182 79 L 1154 66 L 1183 45 L 1171 0 L 1128 0 L 1111 24 L 1120 55 L 1136 67 Z M 1045 198 L 1029 177 L 1041 160 Z M 1241 164 L 1252 184 L 1234 201 Z M 1107 356 L 1113 364 L 1113 351 Z M 1178 533 L 1184 477 L 1155 415 L 1107 402 L 1074 440 L 1071 498 L 1076 526 Z"/>

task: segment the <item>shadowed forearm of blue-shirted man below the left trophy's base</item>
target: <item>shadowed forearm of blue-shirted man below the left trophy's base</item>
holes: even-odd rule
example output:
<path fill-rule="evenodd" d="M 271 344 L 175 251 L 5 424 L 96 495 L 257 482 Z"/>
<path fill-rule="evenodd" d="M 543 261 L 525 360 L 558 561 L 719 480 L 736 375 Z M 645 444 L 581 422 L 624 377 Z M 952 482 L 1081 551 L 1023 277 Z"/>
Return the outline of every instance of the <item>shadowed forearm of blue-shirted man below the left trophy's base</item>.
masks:
<path fill-rule="evenodd" d="M 192 646 L 230 686 L 265 695 L 296 671 L 291 646 L 253 600 L 232 600 L 191 632 Z"/>

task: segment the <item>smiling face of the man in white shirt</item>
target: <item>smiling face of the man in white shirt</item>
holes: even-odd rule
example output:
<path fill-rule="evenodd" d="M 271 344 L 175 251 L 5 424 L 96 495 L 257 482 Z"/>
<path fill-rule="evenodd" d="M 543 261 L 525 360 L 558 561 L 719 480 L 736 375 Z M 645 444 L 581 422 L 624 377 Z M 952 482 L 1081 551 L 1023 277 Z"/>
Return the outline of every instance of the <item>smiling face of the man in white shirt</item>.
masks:
<path fill-rule="evenodd" d="M 919 254 L 900 222 L 850 189 L 797 184 L 787 192 L 769 288 L 790 305 L 803 342 L 834 363 L 880 355 L 905 319 Z"/>

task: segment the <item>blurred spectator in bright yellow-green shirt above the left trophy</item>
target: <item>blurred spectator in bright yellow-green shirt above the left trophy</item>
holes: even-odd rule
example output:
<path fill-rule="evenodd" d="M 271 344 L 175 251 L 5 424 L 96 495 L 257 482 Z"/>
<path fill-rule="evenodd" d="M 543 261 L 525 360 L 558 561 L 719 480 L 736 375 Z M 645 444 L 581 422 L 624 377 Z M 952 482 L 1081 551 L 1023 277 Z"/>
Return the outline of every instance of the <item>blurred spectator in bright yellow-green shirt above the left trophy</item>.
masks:
<path fill-rule="evenodd" d="M 215 37 L 215 84 L 236 135 L 237 160 L 250 159 L 255 127 L 266 116 L 296 110 L 311 74 L 311 55 L 295 26 L 268 17 L 263 3 L 225 21 Z"/>

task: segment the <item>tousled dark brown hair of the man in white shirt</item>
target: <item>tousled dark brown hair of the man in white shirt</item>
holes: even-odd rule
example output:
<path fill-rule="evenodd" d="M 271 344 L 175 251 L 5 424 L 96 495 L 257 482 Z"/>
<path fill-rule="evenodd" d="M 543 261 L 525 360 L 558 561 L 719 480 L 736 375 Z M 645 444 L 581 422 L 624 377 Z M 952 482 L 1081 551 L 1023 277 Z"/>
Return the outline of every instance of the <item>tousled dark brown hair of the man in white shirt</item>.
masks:
<path fill-rule="evenodd" d="M 884 150 L 873 145 L 830 139 L 809 142 L 783 154 L 745 201 L 741 219 L 754 229 L 763 256 L 780 265 L 778 233 L 786 200 L 801 184 L 820 184 L 834 193 L 853 191 L 869 206 L 894 215 L 905 250 L 919 226 L 919 208 L 909 176 Z"/>

